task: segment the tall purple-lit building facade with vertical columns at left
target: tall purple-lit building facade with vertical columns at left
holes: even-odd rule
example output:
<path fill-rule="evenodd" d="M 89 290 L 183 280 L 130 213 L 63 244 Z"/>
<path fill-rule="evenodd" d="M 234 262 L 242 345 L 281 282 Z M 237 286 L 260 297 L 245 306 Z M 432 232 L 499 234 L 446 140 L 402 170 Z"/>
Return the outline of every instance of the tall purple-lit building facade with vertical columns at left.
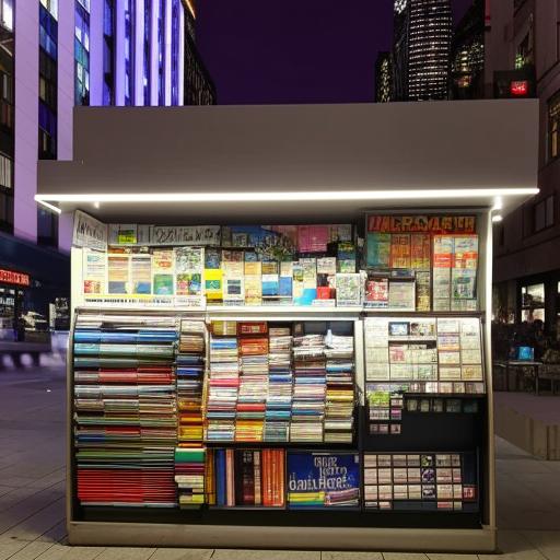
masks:
<path fill-rule="evenodd" d="M 37 208 L 37 159 L 72 159 L 75 105 L 185 104 L 195 9 L 194 0 L 0 0 L 0 269 L 32 284 L 22 295 L 0 283 L 0 322 L 46 313 L 40 294 L 68 292 L 72 225 Z"/>

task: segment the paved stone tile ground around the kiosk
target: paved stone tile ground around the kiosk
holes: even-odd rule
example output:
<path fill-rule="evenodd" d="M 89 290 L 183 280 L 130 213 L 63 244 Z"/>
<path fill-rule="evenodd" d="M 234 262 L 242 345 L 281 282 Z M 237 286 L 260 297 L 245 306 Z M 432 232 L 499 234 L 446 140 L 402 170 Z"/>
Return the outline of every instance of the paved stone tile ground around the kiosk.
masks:
<path fill-rule="evenodd" d="M 0 370 L 0 560 L 477 559 L 477 555 L 70 547 L 65 529 L 65 412 L 61 360 L 46 359 L 40 370 Z M 535 459 L 500 439 L 497 444 L 501 557 L 560 560 L 560 462 Z"/>

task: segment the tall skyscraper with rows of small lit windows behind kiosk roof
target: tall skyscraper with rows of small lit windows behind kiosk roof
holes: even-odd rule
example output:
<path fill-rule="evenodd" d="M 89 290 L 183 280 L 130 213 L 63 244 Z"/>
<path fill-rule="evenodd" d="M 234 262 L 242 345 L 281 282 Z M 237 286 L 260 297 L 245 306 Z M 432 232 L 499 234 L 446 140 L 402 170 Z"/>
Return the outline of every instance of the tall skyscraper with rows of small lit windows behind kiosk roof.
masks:
<path fill-rule="evenodd" d="M 451 0 L 395 0 L 394 83 L 397 101 L 447 97 Z"/>

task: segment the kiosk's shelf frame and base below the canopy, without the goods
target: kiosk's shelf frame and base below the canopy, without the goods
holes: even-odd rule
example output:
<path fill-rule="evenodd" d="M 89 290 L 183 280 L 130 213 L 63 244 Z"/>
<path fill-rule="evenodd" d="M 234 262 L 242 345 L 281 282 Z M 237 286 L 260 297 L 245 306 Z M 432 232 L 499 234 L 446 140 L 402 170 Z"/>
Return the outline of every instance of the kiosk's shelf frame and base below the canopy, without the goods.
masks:
<path fill-rule="evenodd" d="M 401 211 L 401 210 L 400 210 Z M 424 210 L 425 212 L 427 210 Z M 429 211 L 429 210 L 428 210 Z M 460 211 L 464 211 L 462 209 Z M 480 310 L 489 301 L 488 247 L 490 246 L 491 214 L 485 209 L 469 209 L 476 214 L 481 246 L 478 282 Z M 397 212 L 397 210 L 395 210 Z M 451 210 L 453 213 L 453 210 Z M 81 262 L 81 249 L 72 249 L 74 262 Z M 81 273 L 75 267 L 74 281 L 81 284 Z M 80 301 L 81 294 L 75 294 Z M 74 300 L 75 301 L 75 300 Z M 282 323 L 332 322 L 351 323 L 354 337 L 354 372 L 357 407 L 354 416 L 354 441 L 352 444 L 326 443 L 245 443 L 207 442 L 208 450 L 215 448 L 285 448 L 294 451 L 355 452 L 364 453 L 436 453 L 475 452 L 477 455 L 477 483 L 479 494 L 470 509 L 464 511 L 406 511 L 395 506 L 389 511 L 372 510 L 364 506 L 363 478 L 360 485 L 359 508 L 345 510 L 290 510 L 259 506 L 220 508 L 203 506 L 200 511 L 159 510 L 150 508 L 83 506 L 75 498 L 75 459 L 73 458 L 72 427 L 69 428 L 69 538 L 77 544 L 150 544 L 162 546 L 221 546 L 221 547 L 282 547 L 287 539 L 293 548 L 330 549 L 425 549 L 425 550 L 493 550 L 494 528 L 494 482 L 492 433 L 491 370 L 488 363 L 489 329 L 486 328 L 485 311 L 477 312 L 410 312 L 372 310 L 359 307 L 322 306 L 222 306 L 208 305 L 199 308 L 131 308 L 126 306 L 103 307 L 85 305 L 77 308 L 80 315 L 131 314 L 174 315 L 182 318 L 212 320 Z M 369 434 L 369 406 L 365 400 L 365 348 L 364 325 L 369 317 L 438 318 L 471 317 L 480 320 L 482 357 L 486 371 L 485 395 L 438 395 L 442 398 L 476 399 L 479 409 L 476 415 L 446 415 L 445 419 L 434 413 L 402 416 L 404 433 Z M 73 335 L 73 328 L 72 332 Z M 208 354 L 207 354 L 208 357 Z M 68 406 L 72 410 L 72 354 L 69 354 Z M 413 394 L 413 397 L 434 397 Z M 442 428 L 442 422 L 445 427 Z M 459 436 L 457 436 L 459 434 Z M 363 469 L 363 465 L 361 467 Z M 363 472 L 363 470 L 362 470 Z M 258 526 L 258 530 L 255 529 Z M 398 542 L 398 545 L 396 545 Z"/>

